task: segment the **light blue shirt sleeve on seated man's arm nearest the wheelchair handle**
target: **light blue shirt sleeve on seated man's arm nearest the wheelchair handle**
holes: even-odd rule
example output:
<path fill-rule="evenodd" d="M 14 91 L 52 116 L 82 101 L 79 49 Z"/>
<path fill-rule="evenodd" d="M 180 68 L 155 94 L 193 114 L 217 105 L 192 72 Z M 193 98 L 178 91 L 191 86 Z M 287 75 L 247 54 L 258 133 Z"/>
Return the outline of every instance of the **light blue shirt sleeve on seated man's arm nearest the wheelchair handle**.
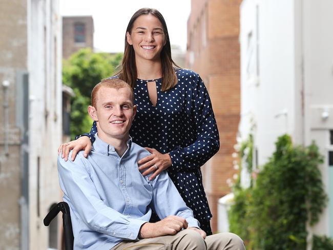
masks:
<path fill-rule="evenodd" d="M 125 216 L 101 200 L 83 156 L 74 161 L 58 157 L 58 175 L 61 189 L 91 230 L 122 239 L 137 239 L 141 225 L 147 221 Z"/>

